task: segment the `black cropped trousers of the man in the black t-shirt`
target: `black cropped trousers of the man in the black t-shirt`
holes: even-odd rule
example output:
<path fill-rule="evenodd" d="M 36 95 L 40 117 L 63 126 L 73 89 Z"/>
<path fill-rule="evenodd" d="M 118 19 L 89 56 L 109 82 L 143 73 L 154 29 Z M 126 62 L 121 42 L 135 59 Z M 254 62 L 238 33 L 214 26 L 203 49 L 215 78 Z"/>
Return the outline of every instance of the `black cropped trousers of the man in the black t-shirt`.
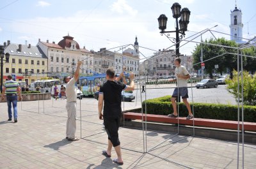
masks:
<path fill-rule="evenodd" d="M 103 119 L 106 132 L 108 133 L 108 140 L 111 141 L 113 147 L 120 145 L 118 128 L 121 117 L 104 117 Z"/>

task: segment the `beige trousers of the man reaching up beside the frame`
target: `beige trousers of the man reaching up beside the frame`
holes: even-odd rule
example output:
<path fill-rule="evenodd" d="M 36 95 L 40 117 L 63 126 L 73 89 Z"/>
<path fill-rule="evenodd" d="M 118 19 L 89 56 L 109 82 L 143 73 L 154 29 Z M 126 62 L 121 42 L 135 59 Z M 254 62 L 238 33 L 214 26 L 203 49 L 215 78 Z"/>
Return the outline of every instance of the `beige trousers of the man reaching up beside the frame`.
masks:
<path fill-rule="evenodd" d="M 76 134 L 76 102 L 67 102 L 66 109 L 68 112 L 66 136 L 75 138 Z"/>

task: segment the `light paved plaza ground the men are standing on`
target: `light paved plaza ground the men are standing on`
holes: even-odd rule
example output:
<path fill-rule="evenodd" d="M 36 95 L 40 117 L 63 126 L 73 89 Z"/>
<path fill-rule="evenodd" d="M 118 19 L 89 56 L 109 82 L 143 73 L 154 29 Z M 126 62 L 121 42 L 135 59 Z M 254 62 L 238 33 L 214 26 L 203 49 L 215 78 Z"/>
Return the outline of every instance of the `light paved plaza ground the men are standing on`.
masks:
<path fill-rule="evenodd" d="M 237 143 L 147 131 L 143 147 L 143 131 L 131 128 L 120 128 L 124 165 L 117 166 L 114 150 L 111 158 L 101 155 L 107 135 L 98 119 L 97 101 L 82 99 L 80 105 L 77 99 L 76 135 L 81 140 L 76 142 L 65 139 L 65 102 L 19 102 L 17 123 L 6 121 L 7 104 L 0 103 L 0 168 L 237 168 Z M 166 138 L 170 139 L 163 142 Z M 241 153 L 242 147 L 239 168 Z M 255 159 L 256 145 L 245 144 L 244 168 L 256 168 Z"/>

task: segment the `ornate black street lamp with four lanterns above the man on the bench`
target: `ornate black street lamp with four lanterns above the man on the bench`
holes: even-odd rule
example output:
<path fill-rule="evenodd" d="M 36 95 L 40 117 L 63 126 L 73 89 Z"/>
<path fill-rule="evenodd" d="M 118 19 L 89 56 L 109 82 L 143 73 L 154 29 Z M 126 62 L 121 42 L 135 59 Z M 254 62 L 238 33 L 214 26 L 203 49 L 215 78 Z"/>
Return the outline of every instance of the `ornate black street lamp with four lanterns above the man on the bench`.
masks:
<path fill-rule="evenodd" d="M 187 27 L 189 24 L 189 16 L 190 11 L 188 8 L 183 8 L 181 10 L 181 6 L 179 3 L 174 3 L 171 7 L 172 9 L 172 16 L 176 20 L 176 30 L 175 31 L 164 31 L 166 29 L 166 24 L 168 18 L 162 14 L 157 18 L 159 29 L 161 30 L 161 35 L 165 35 L 170 41 L 173 43 L 176 43 L 176 56 L 179 57 L 179 47 L 180 47 L 180 40 L 185 36 L 185 31 L 187 31 Z M 181 11 L 180 11 L 181 10 Z M 178 22 L 178 18 L 180 17 L 180 20 Z M 167 34 L 166 34 L 167 33 Z M 176 33 L 175 38 L 171 38 L 169 33 Z M 180 34 L 180 35 L 179 35 Z"/>

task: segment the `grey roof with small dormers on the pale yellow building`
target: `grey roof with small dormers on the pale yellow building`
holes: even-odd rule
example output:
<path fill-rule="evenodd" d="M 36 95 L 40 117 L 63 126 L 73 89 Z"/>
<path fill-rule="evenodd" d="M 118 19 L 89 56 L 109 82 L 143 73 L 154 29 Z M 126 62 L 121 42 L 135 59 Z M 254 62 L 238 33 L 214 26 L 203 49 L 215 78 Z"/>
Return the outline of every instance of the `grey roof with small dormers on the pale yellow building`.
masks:
<path fill-rule="evenodd" d="M 19 52 L 19 45 L 15 43 L 11 43 L 10 45 L 4 48 L 4 53 L 8 52 L 10 55 L 20 55 L 27 57 L 38 57 L 45 58 L 47 56 L 41 50 L 40 47 L 31 46 L 30 48 L 27 45 L 21 45 L 21 52 Z"/>

